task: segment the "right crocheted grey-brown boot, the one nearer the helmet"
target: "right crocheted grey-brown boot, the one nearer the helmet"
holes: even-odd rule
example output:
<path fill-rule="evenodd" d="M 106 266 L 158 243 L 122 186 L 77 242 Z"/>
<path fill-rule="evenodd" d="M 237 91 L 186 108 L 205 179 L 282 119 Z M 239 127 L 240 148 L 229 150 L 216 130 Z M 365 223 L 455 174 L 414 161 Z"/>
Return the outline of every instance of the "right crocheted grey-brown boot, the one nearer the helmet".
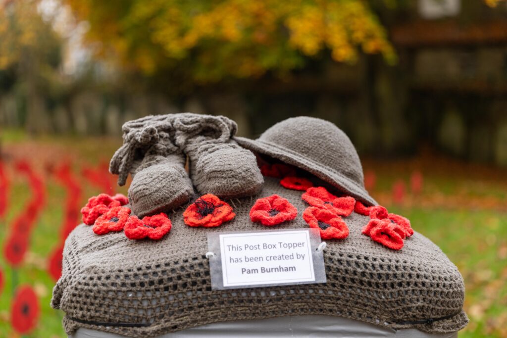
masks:
<path fill-rule="evenodd" d="M 200 194 L 221 198 L 251 196 L 264 179 L 256 157 L 231 139 L 234 121 L 223 116 L 174 115 L 175 144 L 189 157 L 192 182 Z"/>

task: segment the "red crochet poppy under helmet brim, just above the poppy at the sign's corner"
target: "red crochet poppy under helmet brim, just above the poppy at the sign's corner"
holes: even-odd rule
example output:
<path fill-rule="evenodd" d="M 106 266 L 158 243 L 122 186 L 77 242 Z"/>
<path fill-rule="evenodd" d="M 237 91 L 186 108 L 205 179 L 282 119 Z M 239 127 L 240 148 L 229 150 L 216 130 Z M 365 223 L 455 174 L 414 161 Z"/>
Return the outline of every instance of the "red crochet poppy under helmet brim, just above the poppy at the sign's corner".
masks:
<path fill-rule="evenodd" d="M 355 206 L 353 197 L 336 197 L 323 186 L 308 188 L 301 198 L 312 207 L 328 209 L 340 216 L 350 215 Z"/>

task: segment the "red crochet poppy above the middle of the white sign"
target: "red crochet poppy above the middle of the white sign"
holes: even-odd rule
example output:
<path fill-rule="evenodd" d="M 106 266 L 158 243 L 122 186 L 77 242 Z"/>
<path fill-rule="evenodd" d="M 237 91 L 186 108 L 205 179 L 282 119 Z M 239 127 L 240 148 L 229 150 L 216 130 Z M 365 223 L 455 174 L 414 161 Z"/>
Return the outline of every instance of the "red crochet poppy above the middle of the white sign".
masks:
<path fill-rule="evenodd" d="M 250 209 L 252 222 L 261 222 L 265 226 L 274 226 L 286 220 L 293 220 L 298 209 L 278 195 L 258 199 Z"/>

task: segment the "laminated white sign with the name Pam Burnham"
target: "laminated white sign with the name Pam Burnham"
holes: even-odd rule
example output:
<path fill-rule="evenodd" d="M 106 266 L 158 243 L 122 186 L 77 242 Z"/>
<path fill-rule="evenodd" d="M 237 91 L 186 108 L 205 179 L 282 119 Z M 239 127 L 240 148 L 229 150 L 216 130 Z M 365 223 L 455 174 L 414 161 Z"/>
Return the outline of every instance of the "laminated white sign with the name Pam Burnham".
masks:
<path fill-rule="evenodd" d="M 216 288 L 325 282 L 322 253 L 316 251 L 320 236 L 316 233 L 318 240 L 310 229 L 216 234 L 220 255 L 215 264 L 220 259 L 220 269 L 214 268 L 210 260 L 215 281 L 217 273 L 222 275 Z"/>

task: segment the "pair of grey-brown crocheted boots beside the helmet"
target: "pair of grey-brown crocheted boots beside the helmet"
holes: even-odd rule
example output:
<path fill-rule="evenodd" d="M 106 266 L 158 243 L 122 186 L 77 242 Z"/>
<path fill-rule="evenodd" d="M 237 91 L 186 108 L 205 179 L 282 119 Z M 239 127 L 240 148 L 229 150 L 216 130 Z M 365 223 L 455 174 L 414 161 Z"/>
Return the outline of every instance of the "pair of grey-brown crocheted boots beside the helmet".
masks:
<path fill-rule="evenodd" d="M 233 198 L 261 190 L 257 160 L 231 139 L 237 125 L 229 118 L 188 112 L 157 115 L 129 121 L 122 129 L 124 144 L 111 159 L 110 171 L 119 175 L 120 185 L 135 173 L 129 199 L 140 216 L 188 201 L 192 186 L 183 170 L 185 156 L 192 183 L 201 194 Z M 135 168 L 139 161 L 141 166 Z"/>

